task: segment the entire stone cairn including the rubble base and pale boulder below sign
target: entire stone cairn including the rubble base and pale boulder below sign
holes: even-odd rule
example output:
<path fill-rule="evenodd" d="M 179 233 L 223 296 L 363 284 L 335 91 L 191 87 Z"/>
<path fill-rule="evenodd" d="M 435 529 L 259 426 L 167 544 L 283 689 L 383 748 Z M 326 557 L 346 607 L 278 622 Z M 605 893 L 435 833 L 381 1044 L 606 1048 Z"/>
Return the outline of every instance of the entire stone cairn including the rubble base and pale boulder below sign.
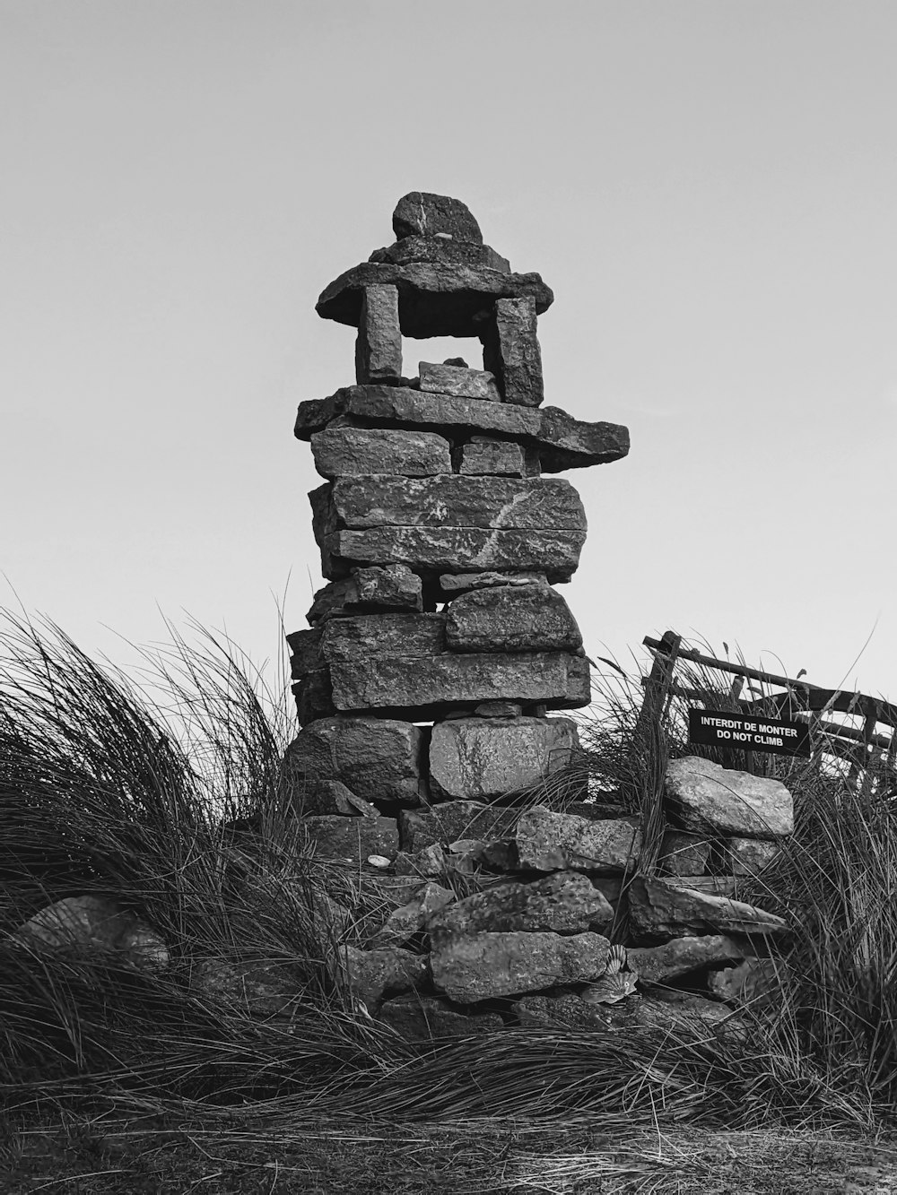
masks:
<path fill-rule="evenodd" d="M 355 385 L 295 423 L 325 478 L 310 498 L 328 584 L 287 637 L 303 729 L 286 772 L 316 856 L 385 899 L 367 948 L 341 948 L 354 991 L 409 1036 L 727 1016 L 695 976 L 731 997 L 783 932 L 732 896 L 791 832 L 791 797 L 676 761 L 653 876 L 637 874 L 635 819 L 514 803 L 572 774 L 575 723 L 547 711 L 590 701 L 554 588 L 586 519 L 545 474 L 618 460 L 629 437 L 542 405 L 537 319 L 554 296 L 483 244 L 465 204 L 414 191 L 392 227 L 317 305 L 358 330 Z M 454 357 L 405 378 L 403 335 L 475 339 L 483 368 Z"/>

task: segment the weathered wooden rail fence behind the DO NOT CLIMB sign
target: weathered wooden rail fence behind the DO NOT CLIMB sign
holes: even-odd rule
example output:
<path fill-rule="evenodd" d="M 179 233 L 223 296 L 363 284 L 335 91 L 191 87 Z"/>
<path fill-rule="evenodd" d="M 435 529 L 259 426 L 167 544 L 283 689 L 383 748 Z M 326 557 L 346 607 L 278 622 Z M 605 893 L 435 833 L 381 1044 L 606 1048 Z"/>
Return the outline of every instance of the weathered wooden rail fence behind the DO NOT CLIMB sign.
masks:
<path fill-rule="evenodd" d="M 891 772 L 895 770 L 897 706 L 890 701 L 866 693 L 824 688 L 799 678 L 779 676 L 761 668 L 732 663 L 731 660 L 718 660 L 715 656 L 683 646 L 682 636 L 673 631 L 667 631 L 660 639 L 648 637 L 643 643 L 653 652 L 654 662 L 649 675 L 642 676 L 645 701 L 640 721 L 657 721 L 670 697 L 683 698 L 689 703 L 700 701 L 707 706 L 713 692 L 726 695 L 733 707 L 748 715 L 807 722 L 813 753 L 846 760 L 849 764 L 850 779 L 868 772 L 873 764 L 884 765 Z M 719 687 L 712 684 L 710 692 L 694 684 L 691 686 L 678 684 L 676 669 L 682 663 L 697 664 L 702 672 L 720 673 Z M 727 691 L 724 676 L 733 678 Z M 742 695 L 749 681 L 763 686 L 759 695 L 750 692 L 750 695 Z M 834 722 L 830 717 L 832 713 L 862 718 L 862 725 L 858 728 Z M 752 754 L 750 752 L 745 754 L 748 767 L 752 771 Z"/>

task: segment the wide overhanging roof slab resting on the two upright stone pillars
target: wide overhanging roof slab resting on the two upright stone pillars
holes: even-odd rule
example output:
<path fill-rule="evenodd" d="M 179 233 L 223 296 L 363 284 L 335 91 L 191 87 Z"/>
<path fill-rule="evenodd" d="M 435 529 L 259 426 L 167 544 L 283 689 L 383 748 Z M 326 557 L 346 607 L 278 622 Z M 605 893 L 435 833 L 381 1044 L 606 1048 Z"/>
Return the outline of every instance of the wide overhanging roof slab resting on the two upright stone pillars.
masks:
<path fill-rule="evenodd" d="M 496 299 L 531 298 L 542 314 L 554 294 L 538 274 L 502 274 L 465 262 L 362 262 L 325 287 L 316 311 L 322 319 L 358 327 L 367 287 L 398 289 L 403 336 L 478 336 Z"/>

